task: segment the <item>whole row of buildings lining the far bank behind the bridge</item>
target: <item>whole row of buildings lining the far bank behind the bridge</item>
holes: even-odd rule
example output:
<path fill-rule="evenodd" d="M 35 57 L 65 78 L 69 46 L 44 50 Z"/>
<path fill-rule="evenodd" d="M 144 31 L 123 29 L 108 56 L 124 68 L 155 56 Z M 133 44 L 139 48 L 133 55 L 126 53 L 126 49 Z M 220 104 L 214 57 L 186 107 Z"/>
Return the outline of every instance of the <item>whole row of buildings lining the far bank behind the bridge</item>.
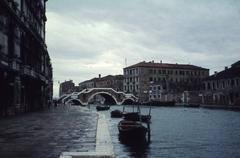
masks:
<path fill-rule="evenodd" d="M 99 76 L 77 87 L 72 81 L 70 83 L 70 92 L 86 88 L 113 88 L 134 94 L 141 103 L 175 101 L 185 104 L 240 105 L 240 61 L 212 76 L 209 76 L 209 69 L 195 65 L 144 61 L 124 68 L 123 75 Z M 63 86 L 60 89 L 64 89 Z"/>

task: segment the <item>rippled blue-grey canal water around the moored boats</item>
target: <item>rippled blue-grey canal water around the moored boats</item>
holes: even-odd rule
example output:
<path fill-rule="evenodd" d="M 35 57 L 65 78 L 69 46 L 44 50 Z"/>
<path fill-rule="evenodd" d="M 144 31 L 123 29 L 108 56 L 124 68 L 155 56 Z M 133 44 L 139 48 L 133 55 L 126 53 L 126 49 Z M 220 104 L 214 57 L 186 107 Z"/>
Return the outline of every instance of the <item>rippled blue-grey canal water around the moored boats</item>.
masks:
<path fill-rule="evenodd" d="M 122 110 L 112 106 L 111 110 Z M 126 108 L 132 111 L 132 106 Z M 144 114 L 148 107 L 141 107 Z M 124 144 L 118 139 L 119 118 L 108 120 L 116 157 L 239 158 L 240 112 L 205 108 L 152 107 L 151 140 L 144 145 Z"/>

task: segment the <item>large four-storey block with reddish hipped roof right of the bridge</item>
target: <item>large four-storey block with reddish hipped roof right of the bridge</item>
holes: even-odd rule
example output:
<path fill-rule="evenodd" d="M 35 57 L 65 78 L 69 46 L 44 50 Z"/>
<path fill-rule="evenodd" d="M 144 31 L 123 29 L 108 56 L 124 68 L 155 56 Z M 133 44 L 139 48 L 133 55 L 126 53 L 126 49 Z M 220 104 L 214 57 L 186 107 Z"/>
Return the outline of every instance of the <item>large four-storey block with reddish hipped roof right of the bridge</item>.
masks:
<path fill-rule="evenodd" d="M 167 93 L 181 94 L 186 90 L 201 89 L 201 81 L 209 76 L 209 70 L 195 65 L 140 62 L 123 69 L 123 90 L 149 101 L 150 85 L 161 83 Z M 161 85 L 160 85 L 161 87 Z M 180 97 L 180 96 L 179 96 Z"/>

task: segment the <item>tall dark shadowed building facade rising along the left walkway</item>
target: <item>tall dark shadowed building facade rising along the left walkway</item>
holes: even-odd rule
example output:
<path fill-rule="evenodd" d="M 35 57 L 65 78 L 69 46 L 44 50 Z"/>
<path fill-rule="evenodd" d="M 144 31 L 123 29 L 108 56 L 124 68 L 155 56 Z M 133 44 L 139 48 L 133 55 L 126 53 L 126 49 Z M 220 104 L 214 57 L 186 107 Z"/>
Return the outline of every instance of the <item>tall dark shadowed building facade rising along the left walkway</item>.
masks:
<path fill-rule="evenodd" d="M 0 1 L 0 115 L 34 111 L 52 100 L 45 44 L 46 0 Z"/>

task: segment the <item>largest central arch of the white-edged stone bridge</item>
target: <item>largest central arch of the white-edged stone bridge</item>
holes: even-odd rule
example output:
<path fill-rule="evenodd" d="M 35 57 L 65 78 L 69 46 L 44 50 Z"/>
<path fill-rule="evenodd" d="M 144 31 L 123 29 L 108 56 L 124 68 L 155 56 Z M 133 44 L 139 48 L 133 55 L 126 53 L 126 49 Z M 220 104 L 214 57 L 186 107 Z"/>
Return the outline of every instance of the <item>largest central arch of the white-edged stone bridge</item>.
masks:
<path fill-rule="evenodd" d="M 108 93 L 108 92 L 96 92 L 94 94 L 92 94 L 87 102 L 89 103 L 91 99 L 93 99 L 94 96 L 96 95 L 101 95 L 104 99 L 105 99 L 105 103 L 106 104 L 110 104 L 110 105 L 116 105 L 118 104 L 117 99 L 115 98 L 115 96 L 113 96 L 112 94 Z M 106 102 L 107 101 L 107 102 Z"/>

